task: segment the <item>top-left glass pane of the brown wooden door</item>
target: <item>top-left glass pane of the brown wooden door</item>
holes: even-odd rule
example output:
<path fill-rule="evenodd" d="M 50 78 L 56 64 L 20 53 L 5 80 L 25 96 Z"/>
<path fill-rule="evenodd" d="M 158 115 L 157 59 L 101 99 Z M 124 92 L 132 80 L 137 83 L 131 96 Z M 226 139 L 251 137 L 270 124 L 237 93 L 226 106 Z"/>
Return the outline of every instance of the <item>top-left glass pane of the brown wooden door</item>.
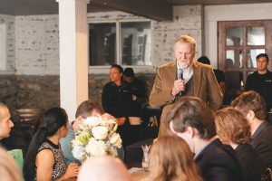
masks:
<path fill-rule="evenodd" d="M 227 28 L 227 46 L 238 46 L 243 42 L 243 28 Z"/>

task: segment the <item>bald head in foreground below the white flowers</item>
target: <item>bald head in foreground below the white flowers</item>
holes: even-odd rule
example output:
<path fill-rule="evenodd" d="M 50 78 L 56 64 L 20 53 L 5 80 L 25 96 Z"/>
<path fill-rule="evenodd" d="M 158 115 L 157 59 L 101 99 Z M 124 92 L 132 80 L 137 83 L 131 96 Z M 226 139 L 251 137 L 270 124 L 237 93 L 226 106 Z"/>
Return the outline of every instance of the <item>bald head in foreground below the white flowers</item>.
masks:
<path fill-rule="evenodd" d="M 116 157 L 90 157 L 81 168 L 78 181 L 131 181 L 131 176 Z"/>

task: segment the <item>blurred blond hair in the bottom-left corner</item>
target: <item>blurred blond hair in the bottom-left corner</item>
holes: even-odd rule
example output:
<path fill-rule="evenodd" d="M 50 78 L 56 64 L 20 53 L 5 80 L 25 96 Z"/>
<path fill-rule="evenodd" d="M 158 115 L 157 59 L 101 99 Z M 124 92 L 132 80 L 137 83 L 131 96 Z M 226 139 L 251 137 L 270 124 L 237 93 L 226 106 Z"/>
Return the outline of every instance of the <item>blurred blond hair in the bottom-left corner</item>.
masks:
<path fill-rule="evenodd" d="M 22 173 L 4 148 L 0 148 L 0 181 L 22 181 Z"/>

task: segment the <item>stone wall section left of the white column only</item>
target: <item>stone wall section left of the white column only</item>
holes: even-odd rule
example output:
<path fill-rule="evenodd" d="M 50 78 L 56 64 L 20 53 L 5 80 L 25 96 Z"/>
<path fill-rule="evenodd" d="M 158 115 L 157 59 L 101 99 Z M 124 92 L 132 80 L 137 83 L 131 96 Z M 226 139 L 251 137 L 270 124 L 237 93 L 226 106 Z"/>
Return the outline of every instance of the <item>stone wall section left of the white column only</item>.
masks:
<path fill-rule="evenodd" d="M 0 75 L 0 101 L 12 110 L 60 105 L 59 76 Z"/>

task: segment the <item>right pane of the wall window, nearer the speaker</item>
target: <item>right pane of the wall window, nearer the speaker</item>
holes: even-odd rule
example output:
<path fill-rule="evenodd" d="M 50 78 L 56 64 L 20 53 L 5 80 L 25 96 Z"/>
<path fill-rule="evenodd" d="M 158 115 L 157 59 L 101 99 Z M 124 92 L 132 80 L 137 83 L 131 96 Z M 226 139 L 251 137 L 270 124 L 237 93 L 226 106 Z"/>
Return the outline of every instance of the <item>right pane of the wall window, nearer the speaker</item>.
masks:
<path fill-rule="evenodd" d="M 121 64 L 151 65 L 151 23 L 121 23 Z"/>

